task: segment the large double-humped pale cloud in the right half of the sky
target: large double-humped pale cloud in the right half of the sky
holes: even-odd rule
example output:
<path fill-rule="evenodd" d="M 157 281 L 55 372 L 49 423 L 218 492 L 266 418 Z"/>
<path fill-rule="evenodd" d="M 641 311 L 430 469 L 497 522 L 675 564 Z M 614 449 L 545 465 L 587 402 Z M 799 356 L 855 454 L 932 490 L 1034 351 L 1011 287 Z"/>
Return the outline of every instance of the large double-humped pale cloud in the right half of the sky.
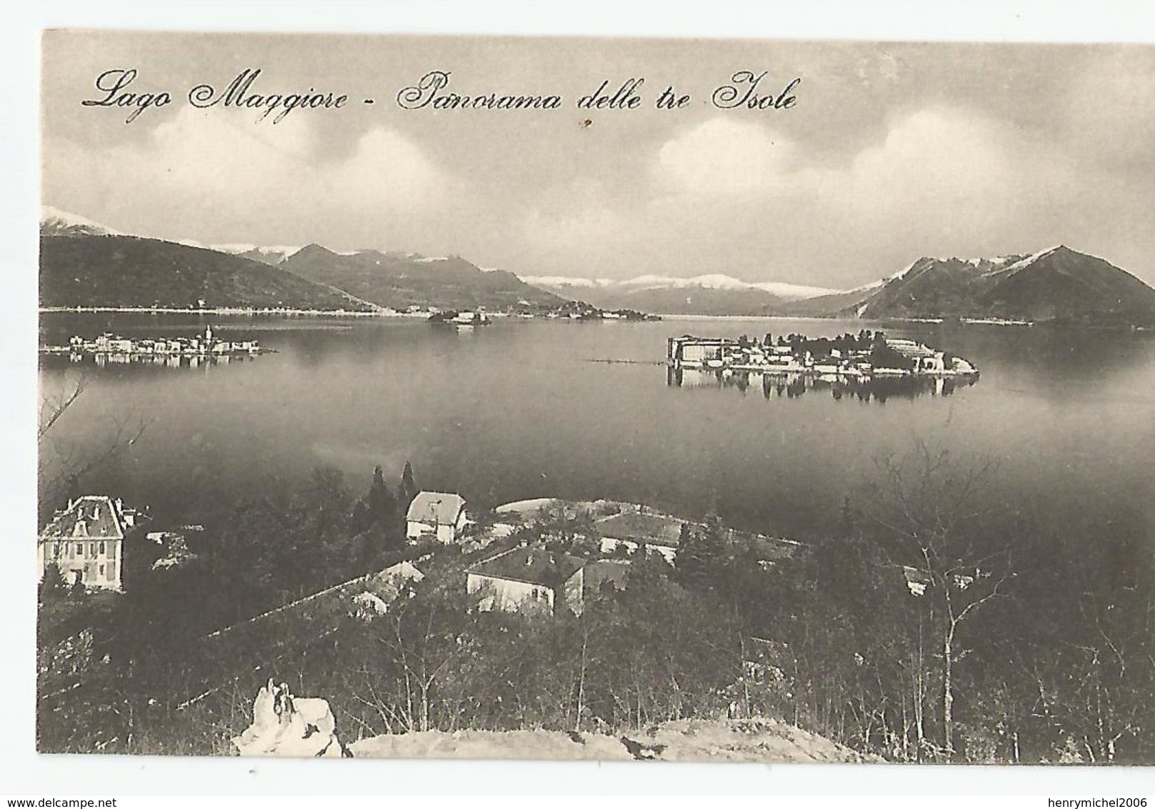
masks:
<path fill-rule="evenodd" d="M 766 124 L 718 116 L 656 148 L 648 198 L 537 217 L 530 230 L 543 255 L 584 250 L 603 274 L 614 273 L 613 257 L 636 268 L 657 253 L 675 275 L 843 287 L 922 253 L 1064 239 L 1056 211 L 1070 205 L 1067 161 L 970 109 L 908 111 L 841 164 L 806 158 Z"/>

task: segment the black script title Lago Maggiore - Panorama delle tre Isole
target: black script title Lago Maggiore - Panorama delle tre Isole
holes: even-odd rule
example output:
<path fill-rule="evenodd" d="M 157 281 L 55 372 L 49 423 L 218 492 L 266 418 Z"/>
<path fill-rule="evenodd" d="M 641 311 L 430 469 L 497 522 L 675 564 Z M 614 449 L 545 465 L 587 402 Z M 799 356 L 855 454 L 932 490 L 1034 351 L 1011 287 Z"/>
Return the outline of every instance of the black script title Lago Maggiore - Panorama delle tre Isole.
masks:
<path fill-rule="evenodd" d="M 557 92 L 513 95 L 498 91 L 459 92 L 450 89 L 453 74 L 449 70 L 430 70 L 416 83 L 404 87 L 394 97 L 402 110 L 508 110 L 549 111 L 574 107 L 582 111 L 639 110 L 687 110 L 695 103 L 705 103 L 718 110 L 791 110 L 797 104 L 797 91 L 802 77 L 775 82 L 769 70 L 737 70 L 726 82 L 714 87 L 705 99 L 695 99 L 691 92 L 666 84 L 649 91 L 644 76 L 624 80 L 604 79 L 587 95 L 567 101 Z M 81 102 L 87 107 L 120 110 L 125 123 L 174 103 L 171 90 L 146 88 L 146 82 L 135 68 L 111 68 L 100 73 L 95 82 L 92 98 Z M 653 87 L 653 82 L 651 86 Z M 188 90 L 186 98 L 192 106 L 234 107 L 255 113 L 255 121 L 280 124 L 291 113 L 307 110 L 342 110 L 360 103 L 375 104 L 374 98 L 353 99 L 348 92 L 318 90 L 314 87 L 281 91 L 268 89 L 269 81 L 261 68 L 245 68 L 225 84 L 201 83 Z"/>

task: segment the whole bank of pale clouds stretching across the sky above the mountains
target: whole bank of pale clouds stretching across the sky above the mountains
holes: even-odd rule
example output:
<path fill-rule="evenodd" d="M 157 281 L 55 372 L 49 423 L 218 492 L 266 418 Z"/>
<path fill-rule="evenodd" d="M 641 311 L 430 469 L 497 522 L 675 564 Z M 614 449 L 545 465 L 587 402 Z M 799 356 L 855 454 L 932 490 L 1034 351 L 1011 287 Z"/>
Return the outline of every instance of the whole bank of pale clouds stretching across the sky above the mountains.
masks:
<path fill-rule="evenodd" d="M 921 254 L 1058 242 L 1142 275 L 1155 247 L 1137 232 L 1155 193 L 1149 175 L 1111 173 L 1089 156 L 1094 138 L 1110 134 L 1123 154 L 1124 131 L 1149 129 L 1130 112 L 1115 113 L 1110 133 L 1088 133 L 924 104 L 860 133 L 857 150 L 821 155 L 781 120 L 723 113 L 632 140 L 621 146 L 631 159 L 612 169 L 559 150 L 532 175 L 539 185 L 527 172 L 482 181 L 463 132 L 461 149 L 434 158 L 374 125 L 337 155 L 305 117 L 274 127 L 221 112 L 182 109 L 102 149 L 46 138 L 45 202 L 203 243 L 318 240 L 461 253 L 532 275 L 725 273 L 844 288 Z"/>

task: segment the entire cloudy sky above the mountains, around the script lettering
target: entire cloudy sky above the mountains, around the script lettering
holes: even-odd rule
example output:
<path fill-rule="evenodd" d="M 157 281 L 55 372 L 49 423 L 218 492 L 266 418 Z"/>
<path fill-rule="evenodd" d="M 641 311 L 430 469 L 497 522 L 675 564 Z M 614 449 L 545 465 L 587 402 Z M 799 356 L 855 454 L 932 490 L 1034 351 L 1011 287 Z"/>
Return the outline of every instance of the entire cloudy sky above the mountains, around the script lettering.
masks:
<path fill-rule="evenodd" d="M 351 102 L 276 125 L 188 104 L 256 67 L 255 92 Z M 83 106 L 110 68 L 172 103 L 131 124 Z M 400 109 L 434 69 L 562 105 Z M 800 77 L 793 109 L 713 106 L 746 69 L 773 92 Z M 631 77 L 638 109 L 574 106 Z M 686 109 L 654 109 L 669 84 Z M 834 288 L 1063 243 L 1155 283 L 1152 46 L 55 32 L 43 102 L 43 201 L 161 238 Z"/>

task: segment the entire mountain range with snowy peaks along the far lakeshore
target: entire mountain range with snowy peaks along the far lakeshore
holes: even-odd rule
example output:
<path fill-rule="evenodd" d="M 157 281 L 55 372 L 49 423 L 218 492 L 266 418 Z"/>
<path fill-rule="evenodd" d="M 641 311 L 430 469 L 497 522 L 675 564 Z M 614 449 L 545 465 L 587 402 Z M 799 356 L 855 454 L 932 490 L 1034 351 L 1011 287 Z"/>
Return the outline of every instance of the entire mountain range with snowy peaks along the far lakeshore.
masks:
<path fill-rule="evenodd" d="M 1155 289 L 1064 245 L 984 259 L 923 257 L 881 281 L 836 291 L 721 274 L 519 277 L 460 257 L 336 252 L 318 244 L 202 245 L 131 236 L 49 207 L 40 216 L 42 306 L 543 312 L 574 299 L 662 314 L 1155 326 Z"/>

